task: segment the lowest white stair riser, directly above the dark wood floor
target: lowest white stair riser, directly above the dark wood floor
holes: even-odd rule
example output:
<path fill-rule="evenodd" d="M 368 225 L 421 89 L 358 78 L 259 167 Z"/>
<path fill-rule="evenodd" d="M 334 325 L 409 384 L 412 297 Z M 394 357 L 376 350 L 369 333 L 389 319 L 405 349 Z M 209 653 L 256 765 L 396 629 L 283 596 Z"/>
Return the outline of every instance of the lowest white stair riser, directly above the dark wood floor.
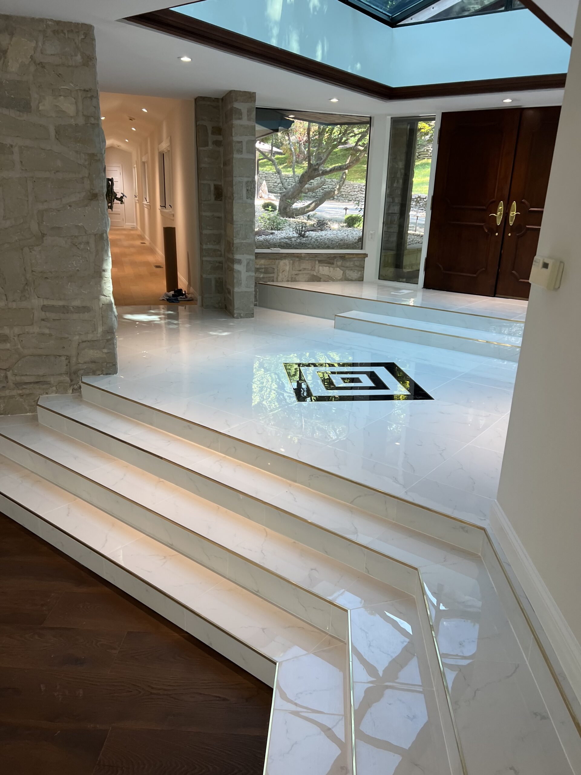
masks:
<path fill-rule="evenodd" d="M 168 598 L 155 587 L 146 584 L 145 581 L 123 570 L 111 560 L 101 556 L 93 549 L 89 549 L 88 546 L 78 542 L 66 532 L 50 525 L 50 522 L 46 522 L 43 518 L 29 512 L 28 509 L 9 498 L 5 498 L 2 494 L 0 494 L 0 512 L 50 543 L 55 549 L 67 554 L 88 570 L 129 594 L 130 597 L 156 611 L 163 618 L 173 622 L 177 627 L 189 632 L 194 638 L 198 638 L 211 649 L 225 656 L 226 659 L 242 667 L 242 670 L 247 670 L 264 684 L 270 687 L 274 686 L 276 664 L 254 649 L 250 649 L 244 643 L 232 638 L 224 630 L 196 615 L 194 611 Z"/>

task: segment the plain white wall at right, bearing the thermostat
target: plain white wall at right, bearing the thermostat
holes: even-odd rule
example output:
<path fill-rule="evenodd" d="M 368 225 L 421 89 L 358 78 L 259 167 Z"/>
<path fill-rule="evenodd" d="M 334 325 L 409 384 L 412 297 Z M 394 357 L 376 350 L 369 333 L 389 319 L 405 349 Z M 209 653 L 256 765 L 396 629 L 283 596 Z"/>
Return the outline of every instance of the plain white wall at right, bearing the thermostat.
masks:
<path fill-rule="evenodd" d="M 576 33 L 538 242 L 565 272 L 559 290 L 531 290 L 497 516 L 506 516 L 505 551 L 581 696 L 581 19 Z"/>

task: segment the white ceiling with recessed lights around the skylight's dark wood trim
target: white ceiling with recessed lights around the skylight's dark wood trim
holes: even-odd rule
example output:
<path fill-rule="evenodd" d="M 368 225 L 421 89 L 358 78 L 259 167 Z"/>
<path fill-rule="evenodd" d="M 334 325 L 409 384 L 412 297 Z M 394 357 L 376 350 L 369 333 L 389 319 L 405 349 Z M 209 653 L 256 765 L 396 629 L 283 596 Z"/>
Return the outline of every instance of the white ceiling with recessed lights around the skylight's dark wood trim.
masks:
<path fill-rule="evenodd" d="M 545 0 L 545 4 L 577 0 Z M 540 3 L 539 3 L 540 4 Z M 169 3 L 168 3 L 169 5 Z M 222 96 L 230 89 L 256 91 L 259 105 L 303 110 L 337 108 L 356 115 L 429 115 L 439 110 L 500 107 L 507 95 L 446 97 L 383 102 L 308 77 L 279 70 L 242 57 L 188 43 L 153 30 L 118 21 L 163 7 L 163 0 L 0 0 L 0 11 L 51 19 L 87 22 L 95 26 L 101 91 L 166 98 Z M 179 57 L 187 54 L 191 62 Z M 510 95 L 513 105 L 554 105 L 562 91 Z M 145 114 L 143 114 L 145 115 Z"/>

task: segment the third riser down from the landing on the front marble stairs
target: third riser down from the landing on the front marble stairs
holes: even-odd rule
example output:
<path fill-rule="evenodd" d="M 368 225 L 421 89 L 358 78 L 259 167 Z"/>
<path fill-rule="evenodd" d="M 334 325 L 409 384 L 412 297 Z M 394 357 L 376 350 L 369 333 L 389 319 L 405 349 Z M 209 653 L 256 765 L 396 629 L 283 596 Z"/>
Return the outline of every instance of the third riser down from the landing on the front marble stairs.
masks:
<path fill-rule="evenodd" d="M 259 594 L 318 629 L 342 640 L 346 639 L 347 612 L 345 609 L 311 594 L 304 588 L 297 587 L 284 578 L 271 574 L 268 570 L 228 552 L 222 546 L 217 546 L 198 534 L 184 530 L 174 522 L 9 439 L 2 439 L 0 453 L 76 495 L 77 498 L 95 505 L 235 584 Z"/>

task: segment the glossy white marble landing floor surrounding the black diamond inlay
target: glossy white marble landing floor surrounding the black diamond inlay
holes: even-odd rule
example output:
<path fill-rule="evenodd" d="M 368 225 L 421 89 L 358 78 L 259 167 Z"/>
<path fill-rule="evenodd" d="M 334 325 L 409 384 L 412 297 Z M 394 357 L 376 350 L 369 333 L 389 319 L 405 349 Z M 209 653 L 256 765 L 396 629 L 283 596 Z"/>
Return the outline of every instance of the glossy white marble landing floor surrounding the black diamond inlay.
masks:
<path fill-rule="evenodd" d="M 516 363 L 257 308 L 119 309 L 119 374 L 90 378 L 164 412 L 439 511 L 486 523 Z M 284 363 L 394 362 L 427 401 L 299 402 Z"/>

